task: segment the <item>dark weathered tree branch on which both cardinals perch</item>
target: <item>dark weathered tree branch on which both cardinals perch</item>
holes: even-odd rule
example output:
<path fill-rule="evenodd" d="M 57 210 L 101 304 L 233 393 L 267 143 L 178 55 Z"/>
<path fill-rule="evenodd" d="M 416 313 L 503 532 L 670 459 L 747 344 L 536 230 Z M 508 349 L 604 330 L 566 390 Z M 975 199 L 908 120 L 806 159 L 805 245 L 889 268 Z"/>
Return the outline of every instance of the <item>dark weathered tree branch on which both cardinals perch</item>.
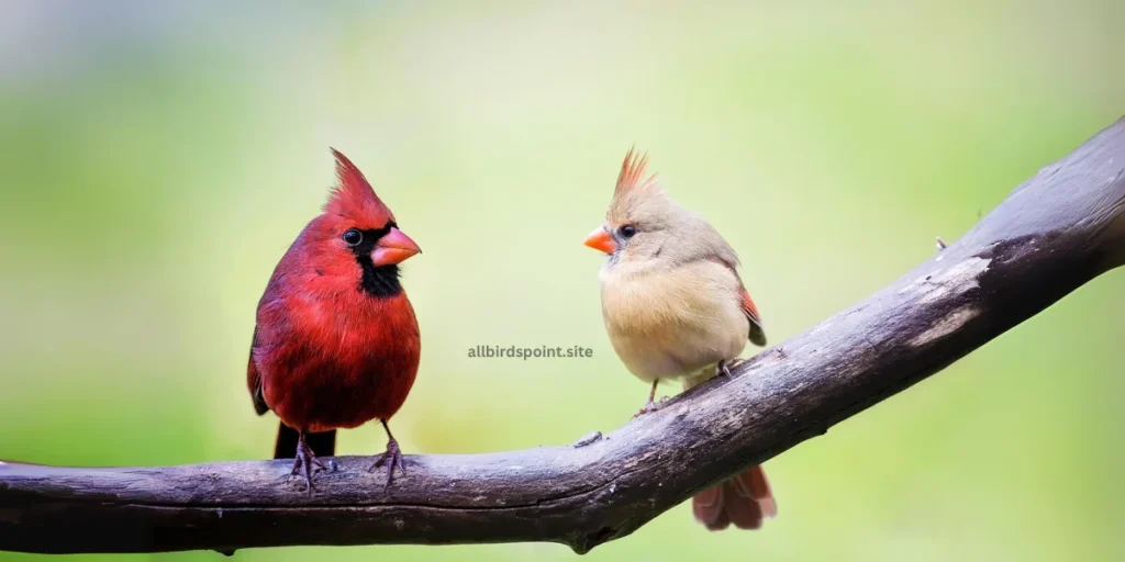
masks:
<path fill-rule="evenodd" d="M 549 541 L 578 553 L 821 435 L 1125 262 L 1125 118 L 1016 188 L 955 244 L 858 305 L 568 446 L 407 456 L 384 493 L 341 457 L 308 496 L 289 461 L 147 469 L 0 464 L 0 550 Z M 720 390 L 721 389 L 721 390 Z"/>

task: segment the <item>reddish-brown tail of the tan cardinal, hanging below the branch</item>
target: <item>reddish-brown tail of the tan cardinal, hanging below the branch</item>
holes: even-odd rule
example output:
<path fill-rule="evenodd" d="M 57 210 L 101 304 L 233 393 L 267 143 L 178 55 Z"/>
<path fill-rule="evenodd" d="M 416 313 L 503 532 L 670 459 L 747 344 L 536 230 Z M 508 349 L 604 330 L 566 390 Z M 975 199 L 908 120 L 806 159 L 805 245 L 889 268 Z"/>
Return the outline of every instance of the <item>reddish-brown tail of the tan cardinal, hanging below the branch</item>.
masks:
<path fill-rule="evenodd" d="M 711 531 L 722 531 L 731 523 L 738 528 L 760 528 L 766 517 L 777 515 L 777 502 L 762 466 L 742 472 L 692 498 L 695 520 Z"/>

